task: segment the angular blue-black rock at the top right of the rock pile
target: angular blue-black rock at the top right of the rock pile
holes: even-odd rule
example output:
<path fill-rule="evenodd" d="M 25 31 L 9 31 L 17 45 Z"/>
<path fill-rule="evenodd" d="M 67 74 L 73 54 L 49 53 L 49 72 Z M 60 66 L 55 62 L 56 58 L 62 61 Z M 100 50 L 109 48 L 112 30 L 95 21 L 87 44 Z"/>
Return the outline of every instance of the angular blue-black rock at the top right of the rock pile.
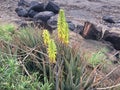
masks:
<path fill-rule="evenodd" d="M 46 11 L 52 11 L 55 14 L 57 14 L 60 10 L 60 7 L 57 4 L 55 4 L 54 2 L 49 1 L 48 4 L 45 7 L 45 10 Z"/>

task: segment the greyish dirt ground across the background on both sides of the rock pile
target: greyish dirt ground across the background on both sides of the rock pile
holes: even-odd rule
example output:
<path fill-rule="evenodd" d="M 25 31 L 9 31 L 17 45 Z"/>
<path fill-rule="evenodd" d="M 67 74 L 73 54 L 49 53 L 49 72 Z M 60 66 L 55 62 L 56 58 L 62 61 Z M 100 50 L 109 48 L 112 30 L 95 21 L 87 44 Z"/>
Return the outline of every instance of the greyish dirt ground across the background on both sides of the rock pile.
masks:
<path fill-rule="evenodd" d="M 19 0 L 0 0 L 0 21 L 9 22 L 21 19 L 15 13 Z M 32 1 L 32 0 L 26 0 Z M 50 1 L 50 0 L 34 0 Z M 78 23 L 90 21 L 104 25 L 102 17 L 112 16 L 115 21 L 120 21 L 120 0 L 52 0 L 66 10 L 67 17 L 77 19 Z M 71 19 L 71 18 L 70 18 Z M 77 21 L 76 20 L 76 21 Z M 75 20 L 74 20 L 75 21 Z M 114 25 L 119 27 L 120 24 Z"/>

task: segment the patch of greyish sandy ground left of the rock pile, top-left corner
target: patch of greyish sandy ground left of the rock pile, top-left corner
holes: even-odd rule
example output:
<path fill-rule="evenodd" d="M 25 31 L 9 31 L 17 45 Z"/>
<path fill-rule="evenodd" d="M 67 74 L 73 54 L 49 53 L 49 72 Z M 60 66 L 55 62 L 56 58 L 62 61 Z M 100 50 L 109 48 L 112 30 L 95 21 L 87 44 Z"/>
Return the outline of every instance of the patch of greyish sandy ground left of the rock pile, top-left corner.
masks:
<path fill-rule="evenodd" d="M 18 0 L 0 0 L 0 21 L 10 22 L 19 19 L 15 13 Z"/>

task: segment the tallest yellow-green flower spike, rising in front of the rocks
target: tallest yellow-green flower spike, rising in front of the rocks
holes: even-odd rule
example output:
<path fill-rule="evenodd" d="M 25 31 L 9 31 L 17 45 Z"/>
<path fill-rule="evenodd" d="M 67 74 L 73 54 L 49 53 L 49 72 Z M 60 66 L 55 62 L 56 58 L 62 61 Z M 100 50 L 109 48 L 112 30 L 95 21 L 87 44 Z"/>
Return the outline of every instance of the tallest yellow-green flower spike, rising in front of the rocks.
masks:
<path fill-rule="evenodd" d="M 60 10 L 58 16 L 58 38 L 59 40 L 64 43 L 69 43 L 69 28 L 68 23 L 66 22 L 64 10 Z"/>

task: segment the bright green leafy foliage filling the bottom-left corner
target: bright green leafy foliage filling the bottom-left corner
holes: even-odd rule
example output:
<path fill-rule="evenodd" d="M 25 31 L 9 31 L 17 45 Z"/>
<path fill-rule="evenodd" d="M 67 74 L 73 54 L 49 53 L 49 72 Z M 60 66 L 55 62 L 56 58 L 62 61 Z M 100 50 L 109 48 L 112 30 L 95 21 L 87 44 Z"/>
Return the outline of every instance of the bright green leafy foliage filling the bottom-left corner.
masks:
<path fill-rule="evenodd" d="M 0 90 L 51 90 L 52 83 L 40 82 L 39 73 L 25 74 L 28 69 L 17 57 L 17 53 L 0 51 Z"/>

